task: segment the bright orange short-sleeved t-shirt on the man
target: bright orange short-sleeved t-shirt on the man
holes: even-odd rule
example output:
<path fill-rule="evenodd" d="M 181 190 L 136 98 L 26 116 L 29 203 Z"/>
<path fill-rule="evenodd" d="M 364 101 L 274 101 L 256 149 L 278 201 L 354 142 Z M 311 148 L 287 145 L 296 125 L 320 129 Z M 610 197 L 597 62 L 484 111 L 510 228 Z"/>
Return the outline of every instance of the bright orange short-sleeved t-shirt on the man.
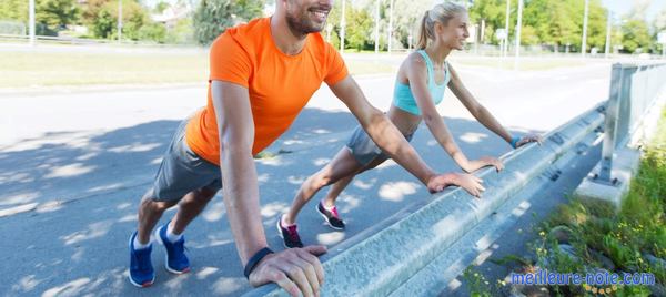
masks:
<path fill-rule="evenodd" d="M 248 88 L 258 154 L 284 133 L 322 82 L 335 84 L 347 76 L 340 53 L 321 34 L 307 35 L 303 51 L 281 52 L 271 37 L 270 18 L 230 28 L 210 50 L 208 104 L 188 123 L 188 145 L 201 157 L 220 164 L 220 136 L 210 82 Z"/>

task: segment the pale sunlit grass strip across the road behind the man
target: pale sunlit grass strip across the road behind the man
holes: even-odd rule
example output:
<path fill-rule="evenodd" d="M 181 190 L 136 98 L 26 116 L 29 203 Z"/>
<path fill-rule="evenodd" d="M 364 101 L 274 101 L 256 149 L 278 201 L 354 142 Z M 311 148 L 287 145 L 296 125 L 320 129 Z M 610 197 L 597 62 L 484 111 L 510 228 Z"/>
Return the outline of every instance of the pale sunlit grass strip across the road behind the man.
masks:
<path fill-rule="evenodd" d="M 393 65 L 347 62 L 352 74 L 392 73 Z M 205 51 L 21 52 L 0 55 L 0 88 L 205 82 Z"/>

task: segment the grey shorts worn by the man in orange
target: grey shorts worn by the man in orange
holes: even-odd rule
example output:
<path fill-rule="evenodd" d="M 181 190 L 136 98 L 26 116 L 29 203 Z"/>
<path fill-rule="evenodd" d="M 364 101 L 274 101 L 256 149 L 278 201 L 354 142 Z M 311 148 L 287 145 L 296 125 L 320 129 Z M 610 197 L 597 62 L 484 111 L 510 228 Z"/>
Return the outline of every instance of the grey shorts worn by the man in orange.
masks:
<path fill-rule="evenodd" d="M 164 153 L 150 196 L 154 201 L 180 201 L 185 194 L 200 188 L 218 192 L 222 188 L 220 166 L 194 153 L 185 141 L 184 120 L 175 131 Z"/>

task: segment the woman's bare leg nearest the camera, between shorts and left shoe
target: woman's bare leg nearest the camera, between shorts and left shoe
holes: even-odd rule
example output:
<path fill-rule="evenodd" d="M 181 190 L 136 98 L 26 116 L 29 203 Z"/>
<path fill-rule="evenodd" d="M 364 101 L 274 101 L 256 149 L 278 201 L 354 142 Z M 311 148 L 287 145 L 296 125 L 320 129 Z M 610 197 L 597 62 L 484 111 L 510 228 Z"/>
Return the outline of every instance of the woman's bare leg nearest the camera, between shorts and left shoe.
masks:
<path fill-rule="evenodd" d="M 361 170 L 362 166 L 354 158 L 347 147 L 343 147 L 337 152 L 335 157 L 320 170 L 314 175 L 307 177 L 301 185 L 299 193 L 294 197 L 291 208 L 283 216 L 283 222 L 287 225 L 292 225 L 296 222 L 296 216 L 301 208 L 324 186 L 340 181 L 346 176 L 352 176 L 355 172 Z M 350 180 L 351 181 L 351 180 Z"/>

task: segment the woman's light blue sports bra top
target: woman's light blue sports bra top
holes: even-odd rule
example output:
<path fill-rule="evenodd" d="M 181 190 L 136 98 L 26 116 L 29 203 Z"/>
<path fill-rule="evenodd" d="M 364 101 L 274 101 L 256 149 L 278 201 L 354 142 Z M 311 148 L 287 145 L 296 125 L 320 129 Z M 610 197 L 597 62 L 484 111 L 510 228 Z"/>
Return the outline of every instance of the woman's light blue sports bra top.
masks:
<path fill-rule="evenodd" d="M 418 50 L 416 52 L 423 55 L 423 59 L 425 59 L 425 64 L 427 65 L 427 90 L 430 91 L 435 105 L 437 105 L 444 99 L 444 91 L 446 90 L 446 85 L 451 80 L 451 74 L 448 73 L 448 63 L 444 62 L 444 71 L 446 73 L 444 76 L 444 83 L 437 84 L 435 82 L 433 62 L 430 60 L 430 57 L 425 50 Z M 395 90 L 393 91 L 393 105 L 411 114 L 421 115 L 421 111 L 418 110 L 418 105 L 416 105 L 416 100 L 414 99 L 414 94 L 412 94 L 410 85 L 400 81 L 395 82 Z"/>

